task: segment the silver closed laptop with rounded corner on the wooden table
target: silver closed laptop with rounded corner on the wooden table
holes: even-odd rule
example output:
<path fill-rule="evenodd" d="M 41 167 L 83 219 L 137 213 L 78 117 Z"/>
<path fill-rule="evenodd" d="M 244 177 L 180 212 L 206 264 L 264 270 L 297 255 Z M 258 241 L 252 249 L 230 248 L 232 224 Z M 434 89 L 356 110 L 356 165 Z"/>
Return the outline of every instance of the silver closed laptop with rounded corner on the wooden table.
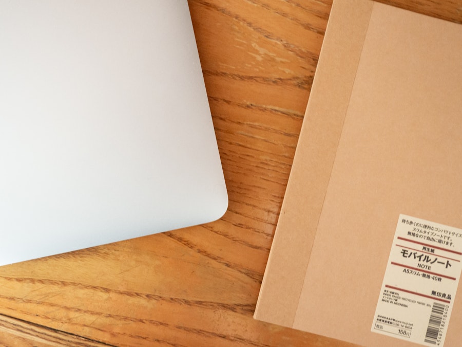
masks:
<path fill-rule="evenodd" d="M 186 0 L 0 0 L 0 52 L 0 265 L 223 215 Z"/>

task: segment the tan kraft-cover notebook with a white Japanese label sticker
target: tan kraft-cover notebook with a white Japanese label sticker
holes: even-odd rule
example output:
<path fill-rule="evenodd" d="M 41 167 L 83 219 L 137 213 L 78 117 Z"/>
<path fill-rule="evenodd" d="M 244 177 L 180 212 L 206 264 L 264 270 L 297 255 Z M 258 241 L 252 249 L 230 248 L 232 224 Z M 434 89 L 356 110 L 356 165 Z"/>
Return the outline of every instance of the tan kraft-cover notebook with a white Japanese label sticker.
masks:
<path fill-rule="evenodd" d="M 334 1 L 255 318 L 459 344 L 461 109 L 461 25 Z"/>

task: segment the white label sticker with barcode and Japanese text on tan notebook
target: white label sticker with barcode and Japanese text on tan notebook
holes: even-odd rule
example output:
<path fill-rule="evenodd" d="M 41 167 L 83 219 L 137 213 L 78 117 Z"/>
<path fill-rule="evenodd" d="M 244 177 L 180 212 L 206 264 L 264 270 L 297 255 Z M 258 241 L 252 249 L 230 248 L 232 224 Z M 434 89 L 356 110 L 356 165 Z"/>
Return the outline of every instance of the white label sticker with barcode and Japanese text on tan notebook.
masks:
<path fill-rule="evenodd" d="M 442 347 L 461 269 L 461 229 L 401 214 L 372 332 Z"/>

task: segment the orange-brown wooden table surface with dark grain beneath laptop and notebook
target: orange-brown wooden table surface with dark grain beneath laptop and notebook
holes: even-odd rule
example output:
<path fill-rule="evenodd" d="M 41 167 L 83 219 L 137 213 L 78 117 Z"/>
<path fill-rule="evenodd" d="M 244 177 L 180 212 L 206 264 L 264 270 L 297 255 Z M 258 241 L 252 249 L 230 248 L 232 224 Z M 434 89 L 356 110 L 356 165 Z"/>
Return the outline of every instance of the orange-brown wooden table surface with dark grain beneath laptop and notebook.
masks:
<path fill-rule="evenodd" d="M 462 0 L 383 2 L 462 22 Z M 252 318 L 331 1 L 189 6 L 228 211 L 207 225 L 1 267 L 0 345 L 350 345 Z"/>

